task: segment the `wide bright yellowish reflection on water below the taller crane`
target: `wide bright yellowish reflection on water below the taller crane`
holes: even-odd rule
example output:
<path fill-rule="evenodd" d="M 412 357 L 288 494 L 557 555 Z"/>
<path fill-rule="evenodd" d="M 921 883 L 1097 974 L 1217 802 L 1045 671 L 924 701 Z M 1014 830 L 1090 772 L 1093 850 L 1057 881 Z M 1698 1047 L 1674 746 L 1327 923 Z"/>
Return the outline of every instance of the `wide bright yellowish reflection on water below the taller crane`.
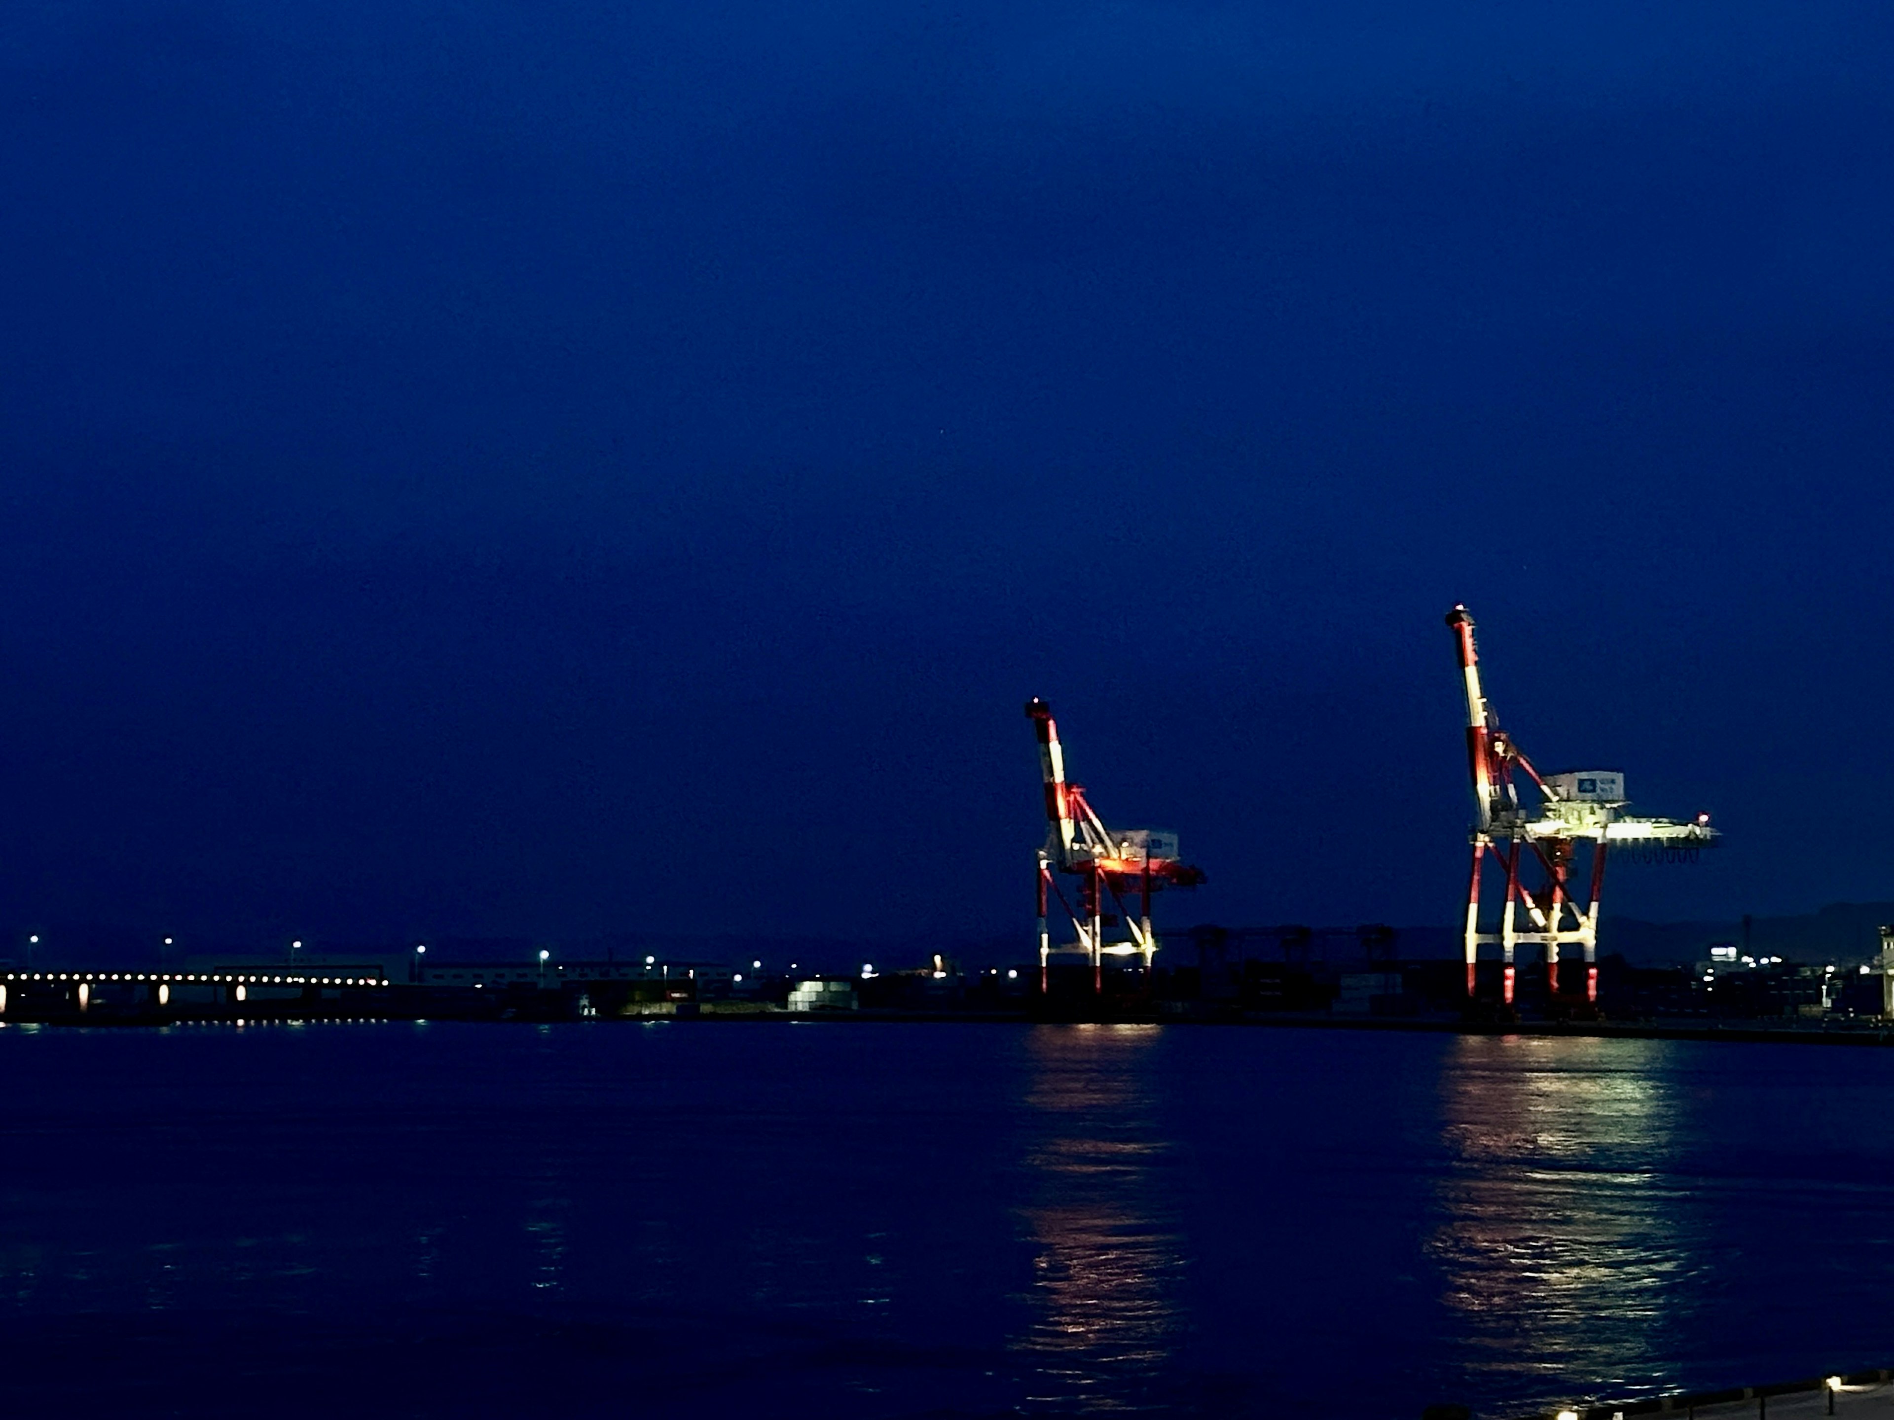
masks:
<path fill-rule="evenodd" d="M 1443 1074 L 1445 1223 L 1432 1251 L 1485 1393 L 1650 1390 L 1691 1274 L 1669 1176 L 1661 1043 L 1462 1036 Z M 1671 1359 L 1667 1359 L 1671 1358 Z"/>

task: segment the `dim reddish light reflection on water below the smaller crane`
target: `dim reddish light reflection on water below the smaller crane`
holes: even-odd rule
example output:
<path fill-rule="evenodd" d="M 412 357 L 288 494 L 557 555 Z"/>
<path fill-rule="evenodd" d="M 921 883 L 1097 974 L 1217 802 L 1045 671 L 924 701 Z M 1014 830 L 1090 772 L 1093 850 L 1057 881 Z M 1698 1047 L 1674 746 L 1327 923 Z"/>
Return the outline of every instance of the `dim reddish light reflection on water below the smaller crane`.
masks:
<path fill-rule="evenodd" d="M 1184 1255 L 1165 1174 L 1150 1026 L 1032 1032 L 1021 1208 L 1036 1248 L 1027 1403 L 1072 1412 L 1153 1403 L 1184 1331 Z"/>

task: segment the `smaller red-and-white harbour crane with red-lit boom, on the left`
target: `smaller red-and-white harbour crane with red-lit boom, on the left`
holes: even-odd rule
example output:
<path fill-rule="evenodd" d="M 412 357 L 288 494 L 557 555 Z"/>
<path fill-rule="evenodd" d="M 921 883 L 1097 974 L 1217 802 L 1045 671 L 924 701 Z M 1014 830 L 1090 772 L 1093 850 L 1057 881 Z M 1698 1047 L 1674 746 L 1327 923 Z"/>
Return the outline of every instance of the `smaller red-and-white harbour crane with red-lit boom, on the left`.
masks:
<path fill-rule="evenodd" d="M 1091 962 L 1093 990 L 1104 990 L 1106 956 L 1142 956 L 1144 969 L 1150 971 L 1152 956 L 1157 952 L 1157 937 L 1152 932 L 1152 894 L 1165 884 L 1176 888 L 1195 888 L 1203 882 L 1203 873 L 1189 863 L 1178 861 L 1178 835 L 1157 829 L 1129 829 L 1114 833 L 1085 799 L 1085 790 L 1066 784 L 1064 746 L 1059 744 L 1059 727 L 1053 723 L 1051 706 L 1038 697 L 1027 701 L 1027 718 L 1032 721 L 1040 740 L 1040 771 L 1045 780 L 1045 846 L 1040 848 L 1040 990 L 1047 986 L 1049 958 L 1053 952 L 1051 933 L 1045 926 L 1045 907 L 1057 897 L 1078 941 L 1059 950 L 1083 952 Z M 1068 873 L 1078 879 L 1078 911 L 1064 894 L 1053 873 Z M 1125 911 L 1125 897 L 1138 896 L 1138 914 Z M 1108 916 L 1104 899 L 1110 896 L 1117 907 L 1117 920 L 1125 924 L 1119 941 L 1106 943 L 1104 928 Z"/>

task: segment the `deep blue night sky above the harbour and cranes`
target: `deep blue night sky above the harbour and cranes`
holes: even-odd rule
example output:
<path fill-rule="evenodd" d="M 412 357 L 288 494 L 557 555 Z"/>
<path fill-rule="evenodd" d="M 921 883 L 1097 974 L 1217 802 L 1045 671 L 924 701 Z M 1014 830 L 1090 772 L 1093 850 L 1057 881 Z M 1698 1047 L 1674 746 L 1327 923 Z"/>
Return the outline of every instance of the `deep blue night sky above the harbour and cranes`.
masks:
<path fill-rule="evenodd" d="M 1447 922 L 1443 610 L 1644 916 L 1894 896 L 1883 4 L 0 13 L 0 920 Z"/>

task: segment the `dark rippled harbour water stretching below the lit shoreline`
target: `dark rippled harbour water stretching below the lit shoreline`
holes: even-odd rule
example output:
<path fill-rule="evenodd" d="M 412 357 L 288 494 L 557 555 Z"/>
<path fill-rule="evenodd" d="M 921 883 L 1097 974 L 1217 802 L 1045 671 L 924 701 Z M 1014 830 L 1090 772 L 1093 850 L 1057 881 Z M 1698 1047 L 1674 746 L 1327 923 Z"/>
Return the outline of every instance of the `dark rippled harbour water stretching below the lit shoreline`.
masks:
<path fill-rule="evenodd" d="M 1894 1363 L 1894 1053 L 0 1028 L 15 1414 L 1487 1414 Z"/>

